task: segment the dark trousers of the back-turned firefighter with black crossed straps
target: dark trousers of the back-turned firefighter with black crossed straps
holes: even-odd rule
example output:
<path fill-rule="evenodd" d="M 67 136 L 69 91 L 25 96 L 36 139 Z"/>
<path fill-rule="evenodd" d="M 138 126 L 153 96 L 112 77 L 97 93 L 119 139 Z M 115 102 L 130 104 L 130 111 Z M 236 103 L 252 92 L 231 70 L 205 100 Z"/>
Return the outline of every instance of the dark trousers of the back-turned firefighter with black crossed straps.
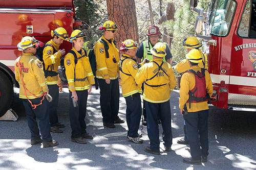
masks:
<path fill-rule="evenodd" d="M 150 138 L 150 148 L 153 151 L 159 152 L 159 129 L 158 117 L 160 117 L 163 128 L 163 141 L 165 147 L 170 147 L 173 144 L 172 135 L 172 119 L 170 115 L 170 102 L 164 103 L 150 103 L 145 101 L 146 108 L 146 122 L 147 122 L 147 135 Z"/>

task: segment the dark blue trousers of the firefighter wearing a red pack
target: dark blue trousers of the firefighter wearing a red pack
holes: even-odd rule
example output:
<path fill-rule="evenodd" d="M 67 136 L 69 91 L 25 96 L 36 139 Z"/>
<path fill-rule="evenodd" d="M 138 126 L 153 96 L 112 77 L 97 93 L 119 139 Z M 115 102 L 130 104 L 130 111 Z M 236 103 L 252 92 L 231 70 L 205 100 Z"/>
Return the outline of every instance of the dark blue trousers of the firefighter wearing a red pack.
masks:
<path fill-rule="evenodd" d="M 187 136 L 192 159 L 201 160 L 201 156 L 208 153 L 208 117 L 209 110 L 188 112 L 184 116 Z"/>

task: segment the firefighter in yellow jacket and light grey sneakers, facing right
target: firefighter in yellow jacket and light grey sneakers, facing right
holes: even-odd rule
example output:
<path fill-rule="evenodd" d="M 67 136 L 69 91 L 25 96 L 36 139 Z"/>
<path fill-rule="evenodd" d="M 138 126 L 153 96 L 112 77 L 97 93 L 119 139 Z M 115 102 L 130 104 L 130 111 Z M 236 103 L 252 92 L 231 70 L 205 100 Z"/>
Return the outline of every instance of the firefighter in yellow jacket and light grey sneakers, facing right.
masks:
<path fill-rule="evenodd" d="M 135 76 L 139 67 L 143 63 L 138 64 L 135 57 L 138 48 L 138 43 L 134 40 L 127 39 L 122 42 L 120 52 L 123 52 L 120 61 L 120 78 L 122 86 L 122 94 L 126 101 L 126 123 L 128 127 L 127 138 L 135 143 L 142 143 L 139 138 L 138 130 L 141 118 L 141 85 L 135 83 Z M 145 59 L 146 60 L 146 59 Z M 145 61 L 144 61 L 145 62 Z"/>

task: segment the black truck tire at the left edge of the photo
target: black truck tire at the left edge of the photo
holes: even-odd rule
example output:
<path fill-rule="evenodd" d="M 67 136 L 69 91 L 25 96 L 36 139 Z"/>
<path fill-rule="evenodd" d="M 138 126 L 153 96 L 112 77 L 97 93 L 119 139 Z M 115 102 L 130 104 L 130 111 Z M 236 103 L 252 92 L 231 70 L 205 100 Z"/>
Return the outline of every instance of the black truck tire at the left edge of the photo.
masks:
<path fill-rule="evenodd" d="M 2 71 L 0 71 L 0 82 L 0 117 L 2 117 L 12 104 L 13 85 Z"/>

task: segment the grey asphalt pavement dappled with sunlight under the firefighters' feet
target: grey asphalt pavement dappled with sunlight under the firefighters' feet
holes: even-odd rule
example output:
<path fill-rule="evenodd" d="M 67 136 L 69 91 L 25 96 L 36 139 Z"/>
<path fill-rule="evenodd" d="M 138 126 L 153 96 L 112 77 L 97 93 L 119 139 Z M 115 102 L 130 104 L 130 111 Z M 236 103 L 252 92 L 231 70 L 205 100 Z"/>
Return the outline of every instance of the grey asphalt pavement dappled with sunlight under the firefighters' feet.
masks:
<path fill-rule="evenodd" d="M 99 105 L 99 90 L 92 90 L 87 104 L 87 131 L 94 135 L 87 144 L 71 141 L 69 122 L 69 93 L 60 93 L 58 116 L 66 125 L 63 133 L 52 133 L 59 145 L 42 148 L 30 145 L 30 132 L 18 89 L 14 89 L 13 110 L 17 122 L 0 122 L 0 169 L 256 169 L 256 113 L 229 111 L 210 106 L 209 156 L 202 165 L 189 165 L 182 159 L 189 157 L 189 145 L 178 144 L 183 135 L 183 117 L 178 108 L 179 91 L 171 93 L 173 151 L 164 151 L 162 128 L 159 126 L 160 155 L 144 152 L 149 144 L 146 127 L 142 144 L 128 141 L 127 125 L 103 127 Z M 121 90 L 120 90 L 121 92 Z M 119 117 L 125 119 L 125 100 L 120 94 Z"/>

